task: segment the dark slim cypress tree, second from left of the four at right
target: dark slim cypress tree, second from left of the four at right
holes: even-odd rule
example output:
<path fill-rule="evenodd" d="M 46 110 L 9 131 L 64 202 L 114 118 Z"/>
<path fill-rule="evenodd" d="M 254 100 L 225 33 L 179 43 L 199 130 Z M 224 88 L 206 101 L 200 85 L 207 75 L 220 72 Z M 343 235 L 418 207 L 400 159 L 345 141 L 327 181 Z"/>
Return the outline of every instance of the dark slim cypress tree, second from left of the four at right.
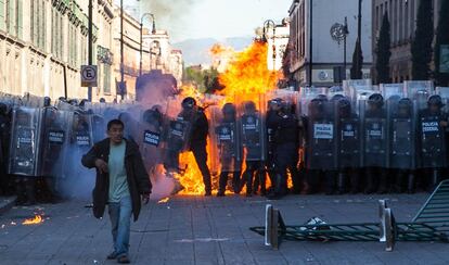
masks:
<path fill-rule="evenodd" d="M 386 84 L 389 83 L 389 58 L 392 56 L 390 46 L 390 33 L 389 33 L 389 21 L 388 13 L 384 14 L 382 20 L 381 33 L 377 40 L 376 47 L 376 61 L 375 71 L 377 72 L 377 83 Z"/>

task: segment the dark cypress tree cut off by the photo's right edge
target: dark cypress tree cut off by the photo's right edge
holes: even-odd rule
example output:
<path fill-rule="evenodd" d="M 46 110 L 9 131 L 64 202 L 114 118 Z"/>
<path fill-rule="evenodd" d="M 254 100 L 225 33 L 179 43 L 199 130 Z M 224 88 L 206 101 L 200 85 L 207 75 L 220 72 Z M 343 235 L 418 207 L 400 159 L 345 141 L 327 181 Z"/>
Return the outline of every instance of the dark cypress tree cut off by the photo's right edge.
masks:
<path fill-rule="evenodd" d="M 440 73 L 440 47 L 449 46 L 449 1 L 441 1 L 435 42 L 435 79 L 438 86 L 449 86 L 449 73 Z M 449 60 L 449 59 L 447 59 Z"/>

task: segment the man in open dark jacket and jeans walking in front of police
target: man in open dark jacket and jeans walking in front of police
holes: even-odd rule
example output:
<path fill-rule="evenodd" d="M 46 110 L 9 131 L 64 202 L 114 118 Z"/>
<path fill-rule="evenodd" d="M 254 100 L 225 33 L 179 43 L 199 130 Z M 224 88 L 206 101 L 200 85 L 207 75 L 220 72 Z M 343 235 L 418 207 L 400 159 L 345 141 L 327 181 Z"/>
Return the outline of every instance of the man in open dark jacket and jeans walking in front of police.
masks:
<path fill-rule="evenodd" d="M 93 189 L 93 215 L 101 218 L 106 204 L 112 224 L 114 251 L 107 260 L 130 263 L 128 257 L 130 218 L 139 217 L 141 202 L 146 204 L 151 181 L 139 152 L 139 147 L 124 138 L 125 125 L 119 119 L 107 123 L 107 138 L 95 143 L 82 156 L 82 165 L 97 168 Z"/>

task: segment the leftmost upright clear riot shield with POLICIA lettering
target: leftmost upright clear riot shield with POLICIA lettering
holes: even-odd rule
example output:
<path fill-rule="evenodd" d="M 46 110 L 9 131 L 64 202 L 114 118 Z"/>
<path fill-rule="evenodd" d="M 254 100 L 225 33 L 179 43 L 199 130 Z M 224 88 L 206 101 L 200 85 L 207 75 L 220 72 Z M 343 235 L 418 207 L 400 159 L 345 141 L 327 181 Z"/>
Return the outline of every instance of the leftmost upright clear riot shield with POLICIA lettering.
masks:
<path fill-rule="evenodd" d="M 36 108 L 17 106 L 13 110 L 9 174 L 38 176 L 40 115 Z"/>

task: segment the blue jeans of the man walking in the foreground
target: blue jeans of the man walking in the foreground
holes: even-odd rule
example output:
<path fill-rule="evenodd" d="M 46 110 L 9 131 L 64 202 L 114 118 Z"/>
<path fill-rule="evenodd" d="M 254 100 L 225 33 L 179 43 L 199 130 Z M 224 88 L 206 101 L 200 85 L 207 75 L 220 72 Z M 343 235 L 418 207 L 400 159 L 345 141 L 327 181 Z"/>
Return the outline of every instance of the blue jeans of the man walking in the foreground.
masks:
<path fill-rule="evenodd" d="M 117 256 L 127 255 L 129 249 L 129 234 L 131 226 L 131 198 L 121 198 L 120 202 L 110 202 L 110 217 L 114 251 Z"/>

